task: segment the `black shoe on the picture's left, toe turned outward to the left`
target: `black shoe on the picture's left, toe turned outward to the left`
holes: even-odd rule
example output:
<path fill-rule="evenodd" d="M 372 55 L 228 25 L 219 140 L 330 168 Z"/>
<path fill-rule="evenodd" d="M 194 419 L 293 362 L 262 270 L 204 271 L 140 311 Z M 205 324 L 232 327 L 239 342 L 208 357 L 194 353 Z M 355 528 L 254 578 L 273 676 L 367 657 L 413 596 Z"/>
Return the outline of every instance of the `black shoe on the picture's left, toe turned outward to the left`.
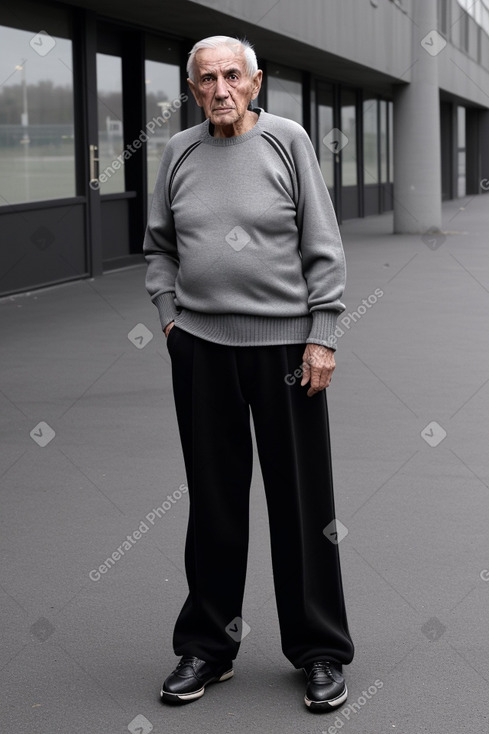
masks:
<path fill-rule="evenodd" d="M 232 662 L 206 663 L 196 657 L 184 656 L 161 686 L 165 703 L 191 703 L 205 693 L 208 683 L 227 680 L 234 675 Z"/>

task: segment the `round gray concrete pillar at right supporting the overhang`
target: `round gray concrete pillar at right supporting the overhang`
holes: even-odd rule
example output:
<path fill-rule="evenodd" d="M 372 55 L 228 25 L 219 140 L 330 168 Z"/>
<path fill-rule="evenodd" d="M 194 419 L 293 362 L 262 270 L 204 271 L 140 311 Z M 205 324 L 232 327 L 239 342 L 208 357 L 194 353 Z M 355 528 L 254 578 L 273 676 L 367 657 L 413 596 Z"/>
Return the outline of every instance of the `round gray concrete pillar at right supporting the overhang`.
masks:
<path fill-rule="evenodd" d="M 441 227 L 437 0 L 413 0 L 411 83 L 394 92 L 394 232 Z"/>

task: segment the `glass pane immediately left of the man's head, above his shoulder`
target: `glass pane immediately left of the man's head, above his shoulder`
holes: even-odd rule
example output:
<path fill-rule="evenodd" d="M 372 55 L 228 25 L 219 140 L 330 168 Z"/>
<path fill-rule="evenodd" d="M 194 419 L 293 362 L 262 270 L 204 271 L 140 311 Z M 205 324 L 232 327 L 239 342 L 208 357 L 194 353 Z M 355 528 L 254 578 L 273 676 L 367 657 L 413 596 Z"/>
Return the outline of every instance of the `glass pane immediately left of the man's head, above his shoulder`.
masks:
<path fill-rule="evenodd" d="M 156 174 L 165 146 L 172 135 L 181 130 L 181 106 L 174 105 L 180 95 L 180 69 L 176 64 L 146 61 L 146 124 L 163 118 L 153 134 L 148 133 L 148 194 L 154 191 Z"/>

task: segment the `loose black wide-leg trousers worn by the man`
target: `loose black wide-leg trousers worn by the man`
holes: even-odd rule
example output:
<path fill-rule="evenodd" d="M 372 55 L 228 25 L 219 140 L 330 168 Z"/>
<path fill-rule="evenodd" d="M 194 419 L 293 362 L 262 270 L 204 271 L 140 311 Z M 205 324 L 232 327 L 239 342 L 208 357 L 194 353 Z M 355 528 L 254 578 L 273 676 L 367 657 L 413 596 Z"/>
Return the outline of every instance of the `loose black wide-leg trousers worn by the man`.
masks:
<path fill-rule="evenodd" d="M 323 534 L 335 517 L 326 393 L 308 398 L 299 380 L 284 379 L 300 367 L 304 345 L 229 347 L 173 327 L 168 350 L 190 498 L 189 595 L 175 653 L 209 662 L 238 653 L 229 625 L 241 617 L 246 576 L 251 409 L 282 650 L 296 668 L 349 663 L 338 546 Z"/>

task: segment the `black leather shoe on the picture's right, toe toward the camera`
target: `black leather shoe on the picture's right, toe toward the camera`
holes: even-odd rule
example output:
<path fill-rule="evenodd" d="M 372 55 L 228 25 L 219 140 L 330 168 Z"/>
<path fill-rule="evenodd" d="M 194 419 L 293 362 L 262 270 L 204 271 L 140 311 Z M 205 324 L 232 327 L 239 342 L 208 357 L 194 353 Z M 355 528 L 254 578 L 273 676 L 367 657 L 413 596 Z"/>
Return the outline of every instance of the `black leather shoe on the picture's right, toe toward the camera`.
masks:
<path fill-rule="evenodd" d="M 346 701 L 348 690 L 341 665 L 318 660 L 304 668 L 307 677 L 304 703 L 311 711 L 330 711 Z"/>

